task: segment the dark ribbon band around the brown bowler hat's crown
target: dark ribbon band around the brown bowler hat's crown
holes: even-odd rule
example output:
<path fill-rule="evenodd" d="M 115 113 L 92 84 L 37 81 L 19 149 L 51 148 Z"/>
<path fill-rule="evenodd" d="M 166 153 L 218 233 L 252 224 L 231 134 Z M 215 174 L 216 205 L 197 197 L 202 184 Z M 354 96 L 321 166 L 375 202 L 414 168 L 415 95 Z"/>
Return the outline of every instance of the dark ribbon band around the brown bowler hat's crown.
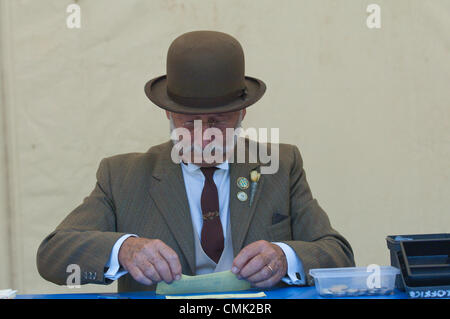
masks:
<path fill-rule="evenodd" d="M 239 89 L 237 91 L 218 97 L 185 97 L 170 92 L 169 87 L 167 87 L 167 95 L 170 96 L 173 101 L 185 106 L 212 107 L 228 104 L 230 102 L 233 102 L 237 98 L 242 98 L 243 100 L 245 100 L 247 96 L 247 88 L 244 87 L 243 89 Z"/>

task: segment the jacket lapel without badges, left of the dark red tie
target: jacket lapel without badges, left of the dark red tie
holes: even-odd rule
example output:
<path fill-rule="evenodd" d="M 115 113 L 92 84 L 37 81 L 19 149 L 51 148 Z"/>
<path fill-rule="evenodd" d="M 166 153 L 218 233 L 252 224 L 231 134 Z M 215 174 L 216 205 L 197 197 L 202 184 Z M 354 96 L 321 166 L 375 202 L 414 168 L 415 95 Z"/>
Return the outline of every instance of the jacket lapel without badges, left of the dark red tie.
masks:
<path fill-rule="evenodd" d="M 172 142 L 168 142 L 155 163 L 150 196 L 170 228 L 191 269 L 195 272 L 194 231 L 183 174 L 179 164 L 170 158 Z"/>

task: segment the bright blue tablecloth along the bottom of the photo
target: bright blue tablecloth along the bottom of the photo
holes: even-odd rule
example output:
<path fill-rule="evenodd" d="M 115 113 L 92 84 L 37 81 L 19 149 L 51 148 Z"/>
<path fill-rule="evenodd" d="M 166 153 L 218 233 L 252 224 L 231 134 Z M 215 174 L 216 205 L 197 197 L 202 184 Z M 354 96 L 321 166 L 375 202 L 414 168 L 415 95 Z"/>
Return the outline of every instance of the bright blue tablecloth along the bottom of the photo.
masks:
<path fill-rule="evenodd" d="M 257 299 L 325 299 L 317 294 L 315 287 L 287 287 L 269 290 L 247 290 L 236 293 L 256 293 L 264 291 L 267 295 Z M 217 294 L 217 293 L 216 293 Z M 205 294 L 201 294 L 205 295 Z M 89 293 L 89 294 L 42 294 L 42 295 L 17 295 L 17 299 L 164 299 L 164 295 L 156 295 L 155 292 L 124 292 L 124 293 Z M 361 296 L 352 299 L 407 299 L 408 295 L 399 290 L 388 296 Z M 333 298 L 336 299 L 336 298 Z M 342 298 L 342 299 L 349 299 Z"/>

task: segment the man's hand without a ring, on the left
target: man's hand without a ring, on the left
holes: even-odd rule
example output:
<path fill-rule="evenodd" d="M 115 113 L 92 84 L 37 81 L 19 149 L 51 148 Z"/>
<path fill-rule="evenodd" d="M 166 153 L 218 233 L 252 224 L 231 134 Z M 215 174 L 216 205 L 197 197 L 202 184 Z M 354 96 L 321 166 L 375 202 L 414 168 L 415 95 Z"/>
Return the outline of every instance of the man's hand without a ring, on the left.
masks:
<path fill-rule="evenodd" d="M 159 239 L 127 238 L 119 250 L 119 263 L 144 285 L 181 278 L 177 254 Z"/>

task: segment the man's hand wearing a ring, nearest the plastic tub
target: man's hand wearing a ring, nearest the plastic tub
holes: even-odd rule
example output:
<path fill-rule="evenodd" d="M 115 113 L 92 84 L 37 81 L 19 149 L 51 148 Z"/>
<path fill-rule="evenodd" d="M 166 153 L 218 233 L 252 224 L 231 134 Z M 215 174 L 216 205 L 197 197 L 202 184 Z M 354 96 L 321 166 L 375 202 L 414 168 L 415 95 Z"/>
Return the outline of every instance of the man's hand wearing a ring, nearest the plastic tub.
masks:
<path fill-rule="evenodd" d="M 286 275 L 287 260 L 279 246 L 260 240 L 240 251 L 231 271 L 255 287 L 268 288 Z"/>

